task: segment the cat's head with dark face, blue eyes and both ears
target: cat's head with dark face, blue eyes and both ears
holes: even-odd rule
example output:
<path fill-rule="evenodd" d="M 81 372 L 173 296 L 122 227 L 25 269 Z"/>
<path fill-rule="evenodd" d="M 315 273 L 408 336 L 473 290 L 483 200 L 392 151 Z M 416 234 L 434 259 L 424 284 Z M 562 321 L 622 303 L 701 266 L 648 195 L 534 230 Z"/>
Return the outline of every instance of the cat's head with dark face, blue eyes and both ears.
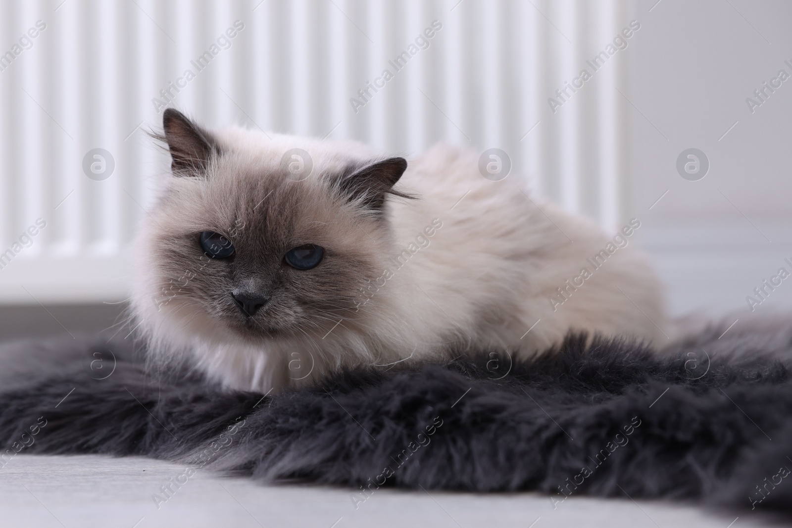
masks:
<path fill-rule="evenodd" d="M 360 288 L 390 253 L 385 196 L 406 161 L 241 130 L 213 137 L 173 110 L 164 139 L 174 177 L 138 245 L 149 317 L 254 342 L 354 324 Z M 282 159 L 293 147 L 310 175 Z"/>

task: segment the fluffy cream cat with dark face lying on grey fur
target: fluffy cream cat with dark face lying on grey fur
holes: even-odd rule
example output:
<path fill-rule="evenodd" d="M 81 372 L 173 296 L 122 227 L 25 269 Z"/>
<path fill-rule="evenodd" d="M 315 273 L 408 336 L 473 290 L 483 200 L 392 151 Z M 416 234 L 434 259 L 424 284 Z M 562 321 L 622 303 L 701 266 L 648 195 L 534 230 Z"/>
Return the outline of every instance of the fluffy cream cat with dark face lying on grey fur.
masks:
<path fill-rule="evenodd" d="M 570 330 L 666 339 L 657 279 L 625 247 L 637 219 L 607 237 L 451 146 L 408 164 L 172 108 L 163 125 L 172 174 L 132 295 L 155 359 L 266 392 L 345 365 L 531 355 Z"/>

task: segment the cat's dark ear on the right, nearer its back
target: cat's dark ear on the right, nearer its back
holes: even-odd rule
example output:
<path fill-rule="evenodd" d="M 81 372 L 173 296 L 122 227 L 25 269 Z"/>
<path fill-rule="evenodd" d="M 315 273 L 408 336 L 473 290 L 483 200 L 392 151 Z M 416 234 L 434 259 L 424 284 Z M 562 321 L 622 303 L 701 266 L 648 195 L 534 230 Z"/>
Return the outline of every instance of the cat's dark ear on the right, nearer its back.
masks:
<path fill-rule="evenodd" d="M 388 158 L 376 161 L 342 177 L 341 191 L 349 199 L 360 200 L 364 207 L 382 211 L 386 194 L 412 198 L 412 196 L 398 192 L 393 188 L 406 169 L 407 160 L 405 158 Z"/>

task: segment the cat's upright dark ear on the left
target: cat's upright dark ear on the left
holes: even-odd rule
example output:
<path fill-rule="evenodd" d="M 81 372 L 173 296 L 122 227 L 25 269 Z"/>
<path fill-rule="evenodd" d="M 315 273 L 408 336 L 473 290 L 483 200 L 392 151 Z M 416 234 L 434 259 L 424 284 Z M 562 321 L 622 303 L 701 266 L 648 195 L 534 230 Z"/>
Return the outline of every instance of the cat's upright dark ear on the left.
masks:
<path fill-rule="evenodd" d="M 173 160 L 170 168 L 177 176 L 204 174 L 211 156 L 220 154 L 219 146 L 211 134 L 174 108 L 166 108 L 162 115 L 162 127 Z"/>

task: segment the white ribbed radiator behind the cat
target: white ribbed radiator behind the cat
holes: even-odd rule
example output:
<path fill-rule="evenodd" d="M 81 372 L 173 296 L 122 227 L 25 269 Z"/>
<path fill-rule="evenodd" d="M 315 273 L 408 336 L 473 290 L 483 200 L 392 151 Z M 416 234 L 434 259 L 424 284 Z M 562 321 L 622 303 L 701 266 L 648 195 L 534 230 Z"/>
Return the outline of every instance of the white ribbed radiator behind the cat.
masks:
<path fill-rule="evenodd" d="M 596 72 L 586 61 L 632 13 L 629 0 L 2 2 L 0 302 L 127 295 L 128 243 L 168 167 L 144 133 L 162 104 L 408 157 L 440 140 L 497 147 L 510 177 L 613 229 L 630 51 Z"/>

